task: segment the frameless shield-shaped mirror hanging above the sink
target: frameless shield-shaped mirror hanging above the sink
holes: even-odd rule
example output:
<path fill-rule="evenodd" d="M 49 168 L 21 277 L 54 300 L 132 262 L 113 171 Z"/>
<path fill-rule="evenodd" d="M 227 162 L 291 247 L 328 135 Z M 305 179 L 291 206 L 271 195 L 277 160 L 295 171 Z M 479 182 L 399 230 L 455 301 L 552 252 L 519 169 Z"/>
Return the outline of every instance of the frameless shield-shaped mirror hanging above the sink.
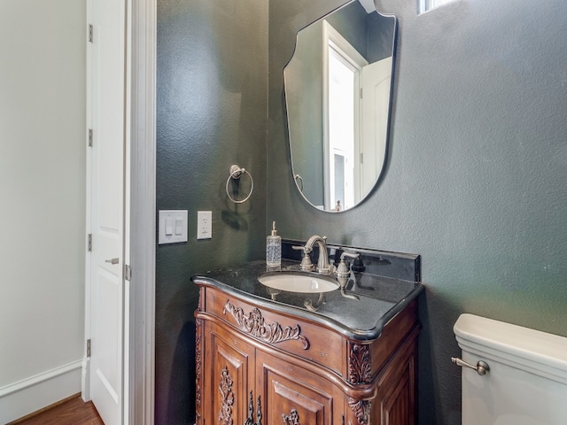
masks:
<path fill-rule="evenodd" d="M 396 26 L 353 0 L 297 35 L 283 69 L 291 170 L 316 208 L 353 208 L 384 169 Z"/>

